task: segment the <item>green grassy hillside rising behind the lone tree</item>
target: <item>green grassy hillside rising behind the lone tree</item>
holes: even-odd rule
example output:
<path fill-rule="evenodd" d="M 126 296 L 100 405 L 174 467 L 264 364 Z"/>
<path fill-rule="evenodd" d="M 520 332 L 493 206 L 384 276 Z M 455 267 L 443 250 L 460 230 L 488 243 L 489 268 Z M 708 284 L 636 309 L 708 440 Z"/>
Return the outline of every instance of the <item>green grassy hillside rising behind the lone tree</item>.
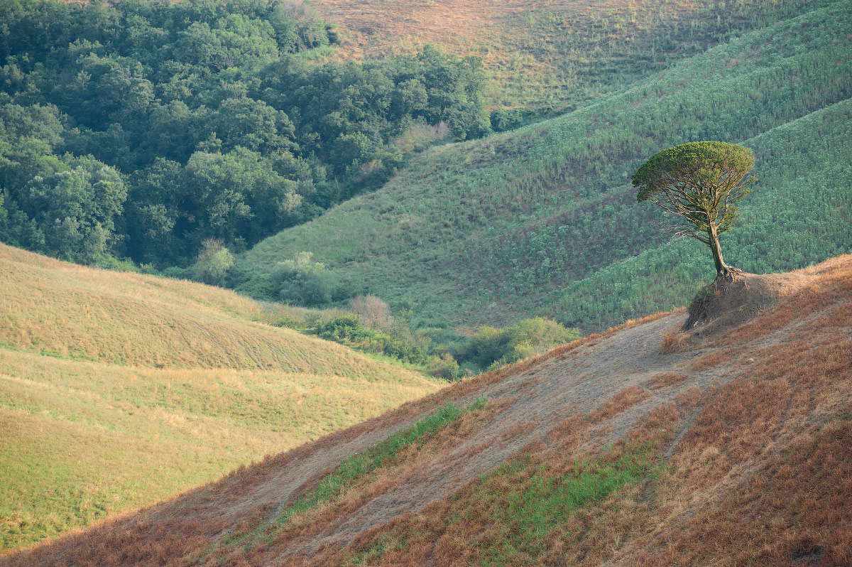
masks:
<path fill-rule="evenodd" d="M 457 326 L 542 314 L 606 328 L 685 304 L 711 277 L 709 255 L 666 242 L 630 188 L 659 149 L 708 139 L 757 158 L 755 192 L 722 239 L 734 265 L 849 252 L 852 11 L 811 8 L 560 118 L 434 148 L 239 262 L 263 272 L 313 252 L 353 286 Z"/>

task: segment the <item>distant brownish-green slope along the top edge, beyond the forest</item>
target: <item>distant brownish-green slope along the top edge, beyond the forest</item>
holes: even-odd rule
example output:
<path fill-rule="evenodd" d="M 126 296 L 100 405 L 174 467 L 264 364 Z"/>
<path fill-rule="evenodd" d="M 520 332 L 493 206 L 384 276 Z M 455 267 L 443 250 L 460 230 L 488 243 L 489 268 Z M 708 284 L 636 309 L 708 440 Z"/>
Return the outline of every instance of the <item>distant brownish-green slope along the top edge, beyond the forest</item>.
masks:
<path fill-rule="evenodd" d="M 316 0 L 343 28 L 344 58 L 433 43 L 483 59 L 493 106 L 573 107 L 741 32 L 800 14 L 807 0 Z"/>

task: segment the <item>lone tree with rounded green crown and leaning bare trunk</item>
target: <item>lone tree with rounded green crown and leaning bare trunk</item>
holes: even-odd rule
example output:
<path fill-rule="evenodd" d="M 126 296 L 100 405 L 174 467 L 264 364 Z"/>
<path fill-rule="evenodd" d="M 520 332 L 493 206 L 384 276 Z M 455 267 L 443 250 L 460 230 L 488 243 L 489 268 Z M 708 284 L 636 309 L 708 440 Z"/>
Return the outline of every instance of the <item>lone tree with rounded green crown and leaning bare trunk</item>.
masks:
<path fill-rule="evenodd" d="M 680 217 L 668 229 L 674 237 L 691 236 L 710 246 L 717 275 L 730 277 L 722 259 L 719 235 L 739 217 L 737 202 L 751 193 L 755 177 L 749 148 L 725 142 L 690 142 L 655 153 L 631 181 L 639 189 L 636 199 L 651 201 L 668 214 Z"/>

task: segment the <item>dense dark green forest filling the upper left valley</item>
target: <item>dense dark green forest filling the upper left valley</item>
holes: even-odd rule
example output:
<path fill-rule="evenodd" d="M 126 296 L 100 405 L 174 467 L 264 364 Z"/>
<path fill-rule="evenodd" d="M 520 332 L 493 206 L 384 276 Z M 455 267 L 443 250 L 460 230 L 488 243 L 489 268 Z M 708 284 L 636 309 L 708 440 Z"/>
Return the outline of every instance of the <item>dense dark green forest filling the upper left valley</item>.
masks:
<path fill-rule="evenodd" d="M 0 240 L 78 263 L 187 267 L 490 131 L 481 61 L 331 62 L 302 2 L 0 5 Z"/>

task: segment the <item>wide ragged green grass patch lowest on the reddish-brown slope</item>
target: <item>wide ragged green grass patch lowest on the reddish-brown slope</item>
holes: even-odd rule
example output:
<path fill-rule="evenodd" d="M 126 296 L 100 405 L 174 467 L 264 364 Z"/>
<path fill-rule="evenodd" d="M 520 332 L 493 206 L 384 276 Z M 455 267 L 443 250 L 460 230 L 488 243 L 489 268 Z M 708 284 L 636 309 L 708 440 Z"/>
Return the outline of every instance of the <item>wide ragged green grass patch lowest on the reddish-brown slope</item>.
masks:
<path fill-rule="evenodd" d="M 564 533 L 566 520 L 575 512 L 630 483 L 653 478 L 659 468 L 656 448 L 656 443 L 639 439 L 622 448 L 604 450 L 594 459 L 577 460 L 563 472 L 520 454 L 483 474 L 469 491 L 452 495 L 454 506 L 449 518 L 392 524 L 354 550 L 345 564 L 377 564 L 384 553 L 405 548 L 409 539 L 438 536 L 417 532 L 423 525 L 452 529 L 457 540 L 473 538 L 466 546 L 470 564 L 533 564 L 548 551 L 553 535 L 583 537 L 581 533 Z M 428 516 L 429 512 L 424 514 Z"/>

